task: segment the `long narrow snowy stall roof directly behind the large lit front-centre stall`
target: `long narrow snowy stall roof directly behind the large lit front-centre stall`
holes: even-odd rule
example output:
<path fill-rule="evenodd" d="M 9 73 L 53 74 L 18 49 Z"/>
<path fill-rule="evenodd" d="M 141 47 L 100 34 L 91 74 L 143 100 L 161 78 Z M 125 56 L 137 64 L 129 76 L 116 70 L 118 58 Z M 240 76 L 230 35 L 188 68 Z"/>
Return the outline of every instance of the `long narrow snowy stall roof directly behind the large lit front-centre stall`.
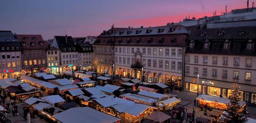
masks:
<path fill-rule="evenodd" d="M 148 97 L 145 97 L 145 96 L 141 96 L 141 95 L 138 95 L 138 94 L 131 94 L 131 93 L 120 95 L 120 97 L 128 97 L 128 98 L 144 101 L 144 102 L 147 102 L 147 103 L 154 103 L 154 102 L 157 101 L 156 99 L 153 99 L 153 98 L 148 98 Z"/>

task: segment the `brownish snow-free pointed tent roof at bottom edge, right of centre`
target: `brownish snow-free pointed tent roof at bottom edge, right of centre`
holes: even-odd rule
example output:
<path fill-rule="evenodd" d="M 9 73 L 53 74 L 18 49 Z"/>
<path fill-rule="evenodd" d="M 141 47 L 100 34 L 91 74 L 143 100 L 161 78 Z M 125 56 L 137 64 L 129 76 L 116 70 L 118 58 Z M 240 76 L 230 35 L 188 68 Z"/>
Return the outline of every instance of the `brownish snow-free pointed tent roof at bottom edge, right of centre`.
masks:
<path fill-rule="evenodd" d="M 151 115 L 147 116 L 146 119 L 150 119 L 152 121 L 155 121 L 157 123 L 162 123 L 164 121 L 166 121 L 167 119 L 170 119 L 171 116 L 167 115 L 164 112 L 153 112 Z"/>

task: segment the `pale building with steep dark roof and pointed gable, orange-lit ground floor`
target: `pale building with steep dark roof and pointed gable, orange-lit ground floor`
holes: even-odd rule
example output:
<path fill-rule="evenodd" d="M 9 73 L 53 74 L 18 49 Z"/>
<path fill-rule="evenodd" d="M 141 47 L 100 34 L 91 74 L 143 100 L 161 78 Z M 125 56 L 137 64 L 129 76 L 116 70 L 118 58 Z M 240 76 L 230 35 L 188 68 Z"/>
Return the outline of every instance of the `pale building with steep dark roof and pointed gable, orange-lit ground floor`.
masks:
<path fill-rule="evenodd" d="M 52 45 L 60 50 L 60 73 L 78 70 L 79 54 L 72 36 L 54 36 Z"/>

